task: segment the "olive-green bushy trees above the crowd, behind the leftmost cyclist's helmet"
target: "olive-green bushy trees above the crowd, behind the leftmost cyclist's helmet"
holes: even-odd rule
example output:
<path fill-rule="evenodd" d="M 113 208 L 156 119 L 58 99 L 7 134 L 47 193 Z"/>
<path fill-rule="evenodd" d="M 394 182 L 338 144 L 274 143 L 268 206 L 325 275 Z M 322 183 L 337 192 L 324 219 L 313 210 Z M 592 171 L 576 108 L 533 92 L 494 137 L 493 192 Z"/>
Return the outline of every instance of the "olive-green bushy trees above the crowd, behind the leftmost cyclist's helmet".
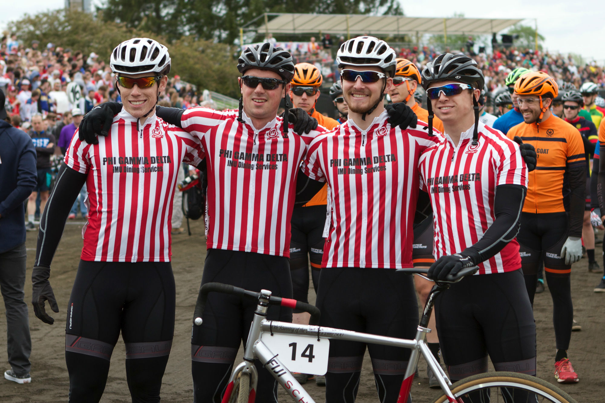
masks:
<path fill-rule="evenodd" d="M 168 44 L 163 36 L 129 28 L 123 23 L 105 22 L 81 11 L 56 10 L 24 15 L 19 21 L 8 24 L 8 28 L 25 43 L 38 39 L 42 43 L 53 42 L 84 54 L 94 51 L 105 62 L 109 62 L 113 48 L 126 39 L 146 37 Z M 240 97 L 233 48 L 194 36 L 183 36 L 168 47 L 172 59 L 171 75 L 179 74 L 200 90 L 207 88 Z"/>

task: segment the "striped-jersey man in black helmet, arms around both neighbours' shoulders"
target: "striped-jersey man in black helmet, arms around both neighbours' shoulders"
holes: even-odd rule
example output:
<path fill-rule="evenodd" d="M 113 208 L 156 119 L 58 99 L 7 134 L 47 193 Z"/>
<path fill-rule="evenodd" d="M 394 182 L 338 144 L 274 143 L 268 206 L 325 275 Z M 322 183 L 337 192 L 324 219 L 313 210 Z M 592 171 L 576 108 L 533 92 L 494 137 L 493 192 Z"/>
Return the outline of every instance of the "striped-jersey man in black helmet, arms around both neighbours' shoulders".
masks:
<path fill-rule="evenodd" d="M 239 110 L 158 107 L 158 114 L 198 137 L 206 157 L 208 252 L 202 283 L 269 289 L 290 298 L 288 257 L 296 173 L 307 144 L 324 129 L 299 108 L 284 118 L 276 117 L 281 99 L 288 100 L 294 71 L 287 51 L 270 43 L 249 47 L 240 55 L 238 70 L 243 74 Z M 80 124 L 87 128 L 82 135 L 103 134 L 95 127 L 121 108 L 120 103 L 105 103 L 93 110 Z M 413 114 L 395 112 L 390 121 L 407 126 Z M 203 324 L 194 328 L 191 339 L 195 401 L 221 401 L 255 308 L 253 302 L 209 295 Z M 292 311 L 270 307 L 267 317 L 291 321 Z M 262 365 L 258 376 L 257 400 L 276 401 L 275 379 Z"/>

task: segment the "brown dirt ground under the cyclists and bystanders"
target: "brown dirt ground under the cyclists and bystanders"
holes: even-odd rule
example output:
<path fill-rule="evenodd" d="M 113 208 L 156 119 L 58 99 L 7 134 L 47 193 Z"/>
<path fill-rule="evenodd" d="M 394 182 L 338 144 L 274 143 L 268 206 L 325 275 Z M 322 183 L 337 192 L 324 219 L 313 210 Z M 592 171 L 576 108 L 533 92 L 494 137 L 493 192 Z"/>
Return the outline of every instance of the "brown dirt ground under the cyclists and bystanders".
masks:
<path fill-rule="evenodd" d="M 28 232 L 27 249 L 27 282 L 25 301 L 30 307 L 30 329 L 33 350 L 31 352 L 32 382 L 18 385 L 0 378 L 0 402 L 65 402 L 67 401 L 69 378 L 65 367 L 65 309 L 70 296 L 71 286 L 76 276 L 82 238 L 80 230 L 83 223 L 67 225 L 59 249 L 54 257 L 51 284 L 59 304 L 59 313 L 50 312 L 55 323 L 50 326 L 39 321 L 31 308 L 31 267 L 35 255 L 37 232 Z M 177 235 L 172 243 L 172 267 L 177 284 L 177 312 L 172 352 L 163 378 L 162 401 L 191 402 L 191 318 L 201 280 L 205 242 L 202 240 L 203 223 L 192 221 L 192 236 Z M 597 246 L 597 251 L 601 247 Z M 600 255 L 600 253 L 597 253 Z M 601 257 L 598 262 L 603 267 Z M 574 298 L 575 319 L 582 325 L 581 332 L 572 334 L 569 350 L 574 368 L 580 375 L 580 382 L 574 385 L 561 385 L 563 390 L 572 395 L 578 402 L 605 401 L 605 293 L 594 293 L 593 289 L 600 281 L 600 275 L 587 272 L 587 260 L 575 264 L 572 271 L 572 295 Z M 315 301 L 315 293 L 310 290 L 310 300 Z M 47 312 L 50 309 L 47 308 Z M 554 382 L 555 338 L 552 329 L 552 301 L 548 288 L 535 298 L 535 318 L 538 339 L 538 376 Z M 5 312 L 0 312 L 0 345 L 6 343 Z M 4 349 L 2 349 L 4 350 Z M 5 350 L 4 350 L 5 351 Z M 240 349 L 241 354 L 241 349 Z M 5 361 L 2 352 L 0 359 Z M 103 402 L 129 402 L 128 385 L 125 374 L 125 348 L 122 340 L 118 342 L 111 359 L 110 376 L 103 395 Z M 426 365 L 419 364 L 420 377 L 414 381 L 412 396 L 414 402 L 433 401 L 440 390 L 428 388 Z M 324 402 L 324 388 L 309 382 L 304 387 L 317 402 Z M 287 401 L 281 393 L 280 401 Z M 376 402 L 376 389 L 371 374 L 371 363 L 366 355 L 364 373 L 359 386 L 358 402 Z"/>

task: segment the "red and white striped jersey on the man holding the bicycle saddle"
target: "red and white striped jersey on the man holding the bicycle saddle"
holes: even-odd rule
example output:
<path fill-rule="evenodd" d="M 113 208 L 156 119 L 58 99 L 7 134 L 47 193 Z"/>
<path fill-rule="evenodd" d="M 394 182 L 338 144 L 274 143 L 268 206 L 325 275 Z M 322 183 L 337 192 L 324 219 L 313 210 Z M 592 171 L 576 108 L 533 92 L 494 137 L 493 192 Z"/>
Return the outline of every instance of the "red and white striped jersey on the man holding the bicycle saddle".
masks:
<path fill-rule="evenodd" d="M 420 185 L 433 206 L 435 258 L 460 253 L 483 237 L 495 220 L 494 195 L 499 185 L 528 185 L 527 167 L 517 143 L 479 122 L 479 144 L 473 127 L 455 146 L 450 136 L 420 157 Z M 479 264 L 479 274 L 521 267 L 519 245 L 512 240 Z"/>

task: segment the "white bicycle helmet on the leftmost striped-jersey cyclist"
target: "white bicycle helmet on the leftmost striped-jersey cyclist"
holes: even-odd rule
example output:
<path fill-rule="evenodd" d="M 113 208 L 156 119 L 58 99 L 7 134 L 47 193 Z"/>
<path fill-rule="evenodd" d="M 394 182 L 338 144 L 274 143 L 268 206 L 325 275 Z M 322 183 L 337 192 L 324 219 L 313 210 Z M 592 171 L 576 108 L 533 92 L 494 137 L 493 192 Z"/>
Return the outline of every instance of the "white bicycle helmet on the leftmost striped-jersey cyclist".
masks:
<path fill-rule="evenodd" d="M 159 73 L 170 71 L 168 48 L 149 38 L 132 38 L 111 52 L 111 70 L 120 74 Z"/>

